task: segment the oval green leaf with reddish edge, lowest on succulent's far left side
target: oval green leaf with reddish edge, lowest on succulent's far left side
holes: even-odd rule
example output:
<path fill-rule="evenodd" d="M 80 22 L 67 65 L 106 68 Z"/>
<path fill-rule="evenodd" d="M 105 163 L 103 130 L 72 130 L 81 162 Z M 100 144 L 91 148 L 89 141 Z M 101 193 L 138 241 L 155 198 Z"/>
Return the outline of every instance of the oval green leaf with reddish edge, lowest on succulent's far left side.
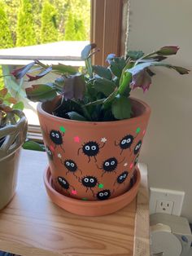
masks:
<path fill-rule="evenodd" d="M 28 99 L 31 99 L 34 102 L 45 102 L 54 99 L 57 95 L 55 88 L 44 84 L 33 85 L 25 90 Z"/>

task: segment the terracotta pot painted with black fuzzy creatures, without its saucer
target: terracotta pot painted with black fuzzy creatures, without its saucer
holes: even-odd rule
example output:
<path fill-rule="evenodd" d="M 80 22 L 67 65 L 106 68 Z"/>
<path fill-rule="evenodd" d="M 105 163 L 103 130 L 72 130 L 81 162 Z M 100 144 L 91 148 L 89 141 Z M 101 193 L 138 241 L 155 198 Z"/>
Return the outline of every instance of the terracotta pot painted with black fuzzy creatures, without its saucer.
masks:
<path fill-rule="evenodd" d="M 123 121 L 73 121 L 51 113 L 58 105 L 38 104 L 53 186 L 83 201 L 103 201 L 130 188 L 150 108 L 132 99 L 134 117 Z"/>

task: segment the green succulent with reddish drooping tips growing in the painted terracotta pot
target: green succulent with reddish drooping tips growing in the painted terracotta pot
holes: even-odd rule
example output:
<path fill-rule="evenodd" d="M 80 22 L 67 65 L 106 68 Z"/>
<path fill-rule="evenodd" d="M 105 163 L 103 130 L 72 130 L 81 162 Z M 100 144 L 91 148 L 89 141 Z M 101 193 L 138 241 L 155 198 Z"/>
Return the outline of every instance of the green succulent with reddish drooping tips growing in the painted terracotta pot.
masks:
<path fill-rule="evenodd" d="M 177 46 L 164 46 L 147 55 L 142 51 L 129 51 L 125 57 L 111 54 L 107 56 L 108 66 L 105 67 L 91 64 L 92 55 L 98 51 L 93 43 L 81 52 L 81 59 L 85 60 L 81 73 L 72 66 L 46 65 L 34 60 L 11 74 L 16 79 L 26 75 L 29 82 L 48 73 L 58 75 L 55 82 L 37 83 L 26 89 L 28 99 L 33 101 L 45 102 L 61 95 L 59 108 L 53 113 L 56 116 L 78 121 L 115 121 L 133 117 L 131 90 L 137 87 L 143 91 L 149 89 L 151 77 L 155 75 L 151 67 L 162 66 L 180 74 L 189 73 L 186 68 L 163 62 L 168 55 L 177 54 L 178 49 Z"/>

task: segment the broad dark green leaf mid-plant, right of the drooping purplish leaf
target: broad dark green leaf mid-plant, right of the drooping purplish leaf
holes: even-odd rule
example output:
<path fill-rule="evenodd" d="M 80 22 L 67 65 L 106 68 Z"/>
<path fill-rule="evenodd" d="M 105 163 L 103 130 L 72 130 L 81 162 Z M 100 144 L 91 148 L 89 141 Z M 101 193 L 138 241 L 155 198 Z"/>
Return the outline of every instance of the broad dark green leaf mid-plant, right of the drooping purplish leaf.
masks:
<path fill-rule="evenodd" d="M 94 81 L 94 89 L 109 96 L 116 89 L 116 84 L 106 78 L 96 78 Z"/>

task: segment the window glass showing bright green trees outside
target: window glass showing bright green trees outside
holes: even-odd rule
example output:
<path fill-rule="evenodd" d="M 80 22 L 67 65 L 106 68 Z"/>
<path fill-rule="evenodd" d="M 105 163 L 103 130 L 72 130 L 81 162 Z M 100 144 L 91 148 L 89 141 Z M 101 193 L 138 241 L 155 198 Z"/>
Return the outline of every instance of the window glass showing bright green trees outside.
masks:
<path fill-rule="evenodd" d="M 0 13 L 0 77 L 34 59 L 83 64 L 80 55 L 89 43 L 90 0 L 2 0 Z M 0 88 L 4 84 L 24 101 L 28 123 L 38 124 L 37 104 L 24 99 L 26 82 L 5 77 Z"/>

